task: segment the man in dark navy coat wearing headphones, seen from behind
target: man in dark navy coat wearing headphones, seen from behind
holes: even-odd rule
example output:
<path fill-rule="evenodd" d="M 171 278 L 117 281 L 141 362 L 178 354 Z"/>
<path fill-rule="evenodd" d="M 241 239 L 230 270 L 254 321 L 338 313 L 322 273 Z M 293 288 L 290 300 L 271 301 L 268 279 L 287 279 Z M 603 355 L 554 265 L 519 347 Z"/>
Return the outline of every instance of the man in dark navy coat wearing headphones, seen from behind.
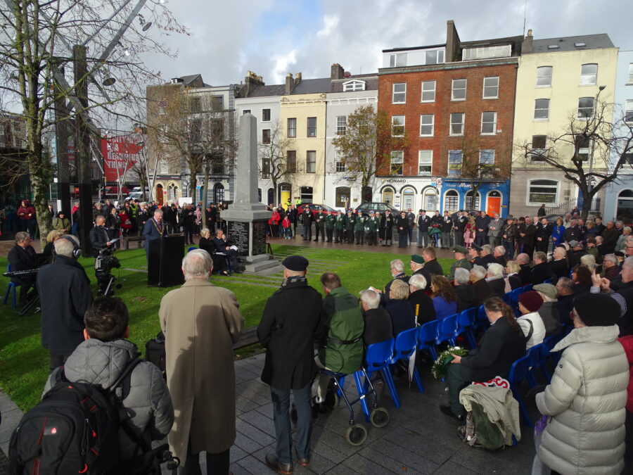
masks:
<path fill-rule="evenodd" d="M 51 372 L 84 341 L 84 314 L 92 304 L 90 280 L 75 257 L 79 240 L 66 235 L 54 246 L 55 260 L 37 274 L 41 346 L 49 350 Z"/>

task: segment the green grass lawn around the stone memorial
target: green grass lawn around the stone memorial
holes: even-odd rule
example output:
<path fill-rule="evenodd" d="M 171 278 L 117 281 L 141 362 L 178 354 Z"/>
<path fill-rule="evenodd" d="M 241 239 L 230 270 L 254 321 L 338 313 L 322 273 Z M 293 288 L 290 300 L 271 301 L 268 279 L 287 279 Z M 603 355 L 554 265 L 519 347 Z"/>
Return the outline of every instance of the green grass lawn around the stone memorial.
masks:
<path fill-rule="evenodd" d="M 274 245 L 274 253 L 301 253 L 300 247 Z M 145 349 L 145 342 L 153 338 L 160 330 L 158 324 L 158 308 L 160 299 L 170 289 L 148 287 L 147 274 L 144 272 L 132 272 L 124 268 L 141 269 L 146 265 L 145 251 L 134 249 L 117 252 L 121 261 L 121 269 L 115 269 L 113 274 L 117 277 L 117 283 L 122 284 L 122 289 L 116 291 L 129 308 L 130 314 L 130 340 L 139 346 L 139 350 Z M 405 265 L 409 265 L 409 255 L 392 255 L 381 253 L 367 253 L 362 251 L 338 251 L 319 250 L 309 253 L 309 258 L 314 260 L 341 261 L 343 265 L 336 267 L 336 272 L 341 277 L 343 285 L 352 293 L 358 293 L 362 289 L 374 286 L 382 289 L 390 280 L 389 262 L 395 258 L 402 258 Z M 88 276 L 91 278 L 92 288 L 96 293 L 94 283 L 94 259 L 81 258 L 79 262 L 84 265 Z M 440 259 L 442 267 L 447 271 L 450 261 Z M 6 258 L 0 258 L 0 269 L 6 269 Z M 315 289 L 321 291 L 319 285 L 320 272 L 309 272 L 308 281 Z M 249 280 L 252 277 L 242 277 Z M 214 284 L 233 291 L 240 303 L 242 315 L 246 321 L 246 327 L 253 327 L 260 321 L 264 303 L 274 292 L 270 287 L 252 286 L 226 277 L 212 277 Z M 271 280 L 276 284 L 274 280 Z M 0 289 L 4 291 L 8 279 L 0 276 Z M 281 283 L 281 278 L 279 279 Z M 49 355 L 40 344 L 40 315 L 19 317 L 11 309 L 11 305 L 0 307 L 0 387 L 8 393 L 11 399 L 22 410 L 27 410 L 37 403 L 41 390 L 48 376 Z"/>

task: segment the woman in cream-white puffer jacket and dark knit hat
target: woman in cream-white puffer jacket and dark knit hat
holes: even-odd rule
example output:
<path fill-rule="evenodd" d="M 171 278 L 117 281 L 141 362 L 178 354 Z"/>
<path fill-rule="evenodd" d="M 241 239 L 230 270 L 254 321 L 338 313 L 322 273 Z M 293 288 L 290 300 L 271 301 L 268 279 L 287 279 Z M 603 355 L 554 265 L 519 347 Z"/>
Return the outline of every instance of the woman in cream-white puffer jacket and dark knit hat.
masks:
<path fill-rule="evenodd" d="M 613 298 L 582 293 L 574 329 L 552 350 L 564 351 L 536 402 L 551 416 L 537 457 L 553 473 L 615 475 L 624 468 L 629 364 L 617 340 L 619 317 Z"/>

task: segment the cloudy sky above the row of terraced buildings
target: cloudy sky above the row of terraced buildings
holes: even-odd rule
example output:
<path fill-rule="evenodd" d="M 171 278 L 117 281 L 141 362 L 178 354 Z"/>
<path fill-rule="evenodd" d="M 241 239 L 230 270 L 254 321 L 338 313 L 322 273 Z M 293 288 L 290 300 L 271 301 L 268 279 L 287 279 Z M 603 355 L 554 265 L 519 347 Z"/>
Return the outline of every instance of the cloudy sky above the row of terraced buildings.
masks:
<path fill-rule="evenodd" d="M 191 36 L 163 37 L 178 57 L 146 56 L 146 62 L 165 79 L 199 72 L 213 85 L 240 82 L 247 70 L 266 84 L 283 82 L 286 72 L 327 77 L 332 63 L 352 74 L 372 72 L 383 49 L 444 43 L 447 20 L 464 41 L 523 34 L 525 10 L 525 31 L 532 28 L 536 39 L 607 33 L 615 46 L 633 49 L 631 0 L 169 0 L 166 6 Z"/>

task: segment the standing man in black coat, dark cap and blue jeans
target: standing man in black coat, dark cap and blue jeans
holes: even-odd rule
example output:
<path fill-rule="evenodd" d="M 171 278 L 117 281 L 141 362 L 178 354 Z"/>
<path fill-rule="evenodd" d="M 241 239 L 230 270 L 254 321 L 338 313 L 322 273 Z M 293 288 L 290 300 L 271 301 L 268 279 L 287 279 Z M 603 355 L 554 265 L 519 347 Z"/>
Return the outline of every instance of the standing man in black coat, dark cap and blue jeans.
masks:
<path fill-rule="evenodd" d="M 257 337 L 267 349 L 262 381 L 270 386 L 277 438 L 276 453 L 267 454 L 265 462 L 274 471 L 291 473 L 290 390 L 298 415 L 298 462 L 306 467 L 310 461 L 310 386 L 316 374 L 314 333 L 321 319 L 323 302 L 321 294 L 307 283 L 306 258 L 290 255 L 281 264 L 283 282 L 266 302 Z"/>

